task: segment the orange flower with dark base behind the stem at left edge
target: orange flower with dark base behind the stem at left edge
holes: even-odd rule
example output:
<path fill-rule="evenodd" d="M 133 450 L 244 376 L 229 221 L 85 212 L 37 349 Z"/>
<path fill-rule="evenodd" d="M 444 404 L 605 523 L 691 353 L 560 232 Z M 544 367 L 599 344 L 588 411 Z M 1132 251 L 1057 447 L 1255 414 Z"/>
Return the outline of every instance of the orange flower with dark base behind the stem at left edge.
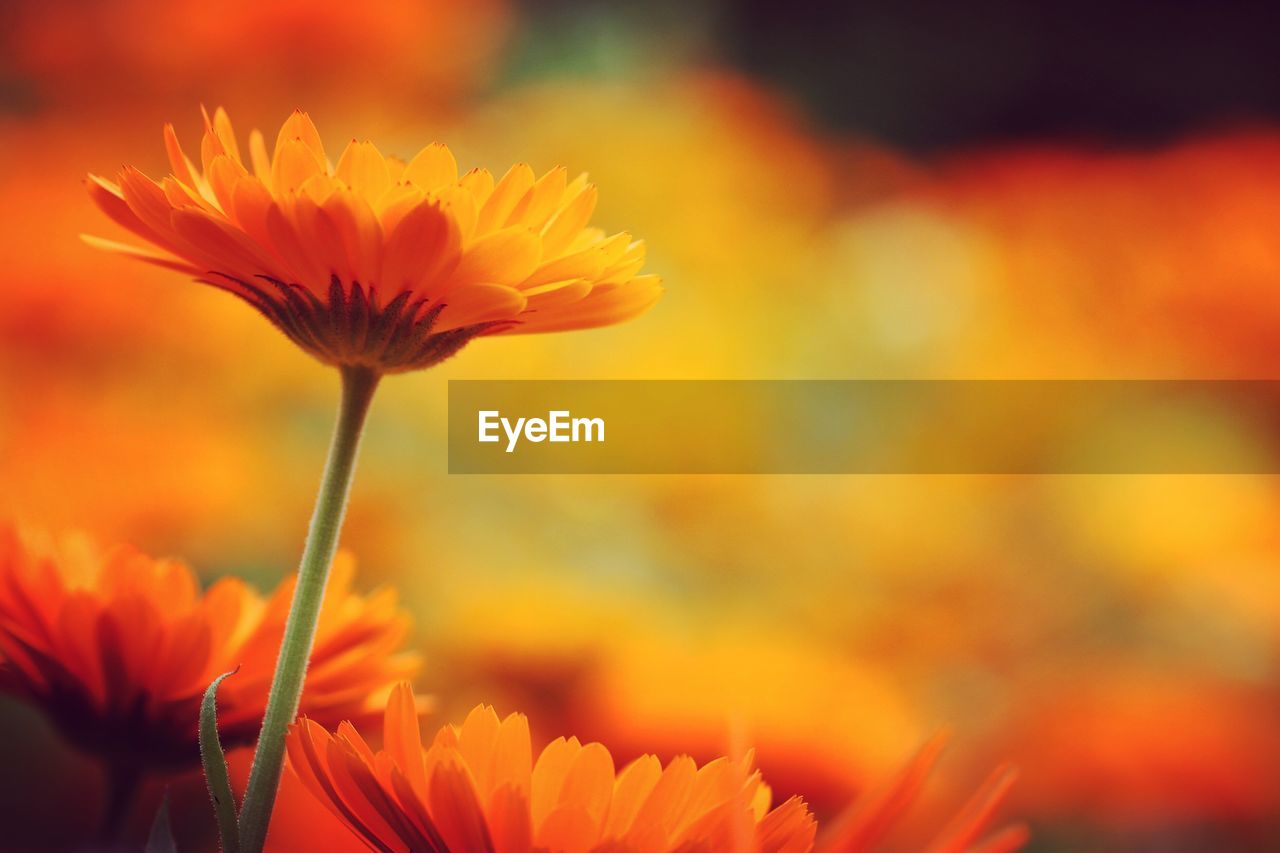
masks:
<path fill-rule="evenodd" d="M 351 592 L 340 558 L 325 596 L 302 710 L 337 722 L 381 711 L 419 661 L 394 592 Z M 193 766 L 209 683 L 227 747 L 253 743 L 293 581 L 264 599 L 236 578 L 204 593 L 192 570 L 83 537 L 0 528 L 0 689 L 41 707 L 78 747 L 154 768 Z"/>

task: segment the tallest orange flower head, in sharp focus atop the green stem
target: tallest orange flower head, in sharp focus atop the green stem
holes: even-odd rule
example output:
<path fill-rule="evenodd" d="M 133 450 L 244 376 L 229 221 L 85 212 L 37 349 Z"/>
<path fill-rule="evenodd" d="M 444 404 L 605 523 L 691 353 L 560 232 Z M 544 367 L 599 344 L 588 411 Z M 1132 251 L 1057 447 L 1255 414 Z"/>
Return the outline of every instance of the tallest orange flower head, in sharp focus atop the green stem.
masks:
<path fill-rule="evenodd" d="M 239 296 L 325 364 L 397 373 L 430 366 L 477 336 L 609 325 L 662 292 L 640 275 L 644 243 L 589 227 L 596 191 L 563 168 L 500 179 L 458 175 L 435 143 L 408 163 L 352 141 L 335 167 L 297 111 L 268 155 L 241 158 L 230 120 L 205 115 L 201 168 L 172 126 L 173 173 L 90 177 L 90 195 L 154 252 L 90 242 Z"/>

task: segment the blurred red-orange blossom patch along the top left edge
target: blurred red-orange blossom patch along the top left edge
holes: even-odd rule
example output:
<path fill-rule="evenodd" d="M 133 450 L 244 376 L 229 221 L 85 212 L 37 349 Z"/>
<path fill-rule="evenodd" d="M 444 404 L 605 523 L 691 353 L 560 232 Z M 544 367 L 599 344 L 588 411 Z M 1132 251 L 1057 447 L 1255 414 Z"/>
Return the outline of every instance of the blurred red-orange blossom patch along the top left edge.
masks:
<path fill-rule="evenodd" d="M 216 15 L 200 0 L 8 6 L 10 73 L 41 101 L 88 108 L 214 88 L 358 102 L 370 86 L 381 102 L 448 104 L 484 79 L 508 22 L 503 0 L 225 0 Z"/>

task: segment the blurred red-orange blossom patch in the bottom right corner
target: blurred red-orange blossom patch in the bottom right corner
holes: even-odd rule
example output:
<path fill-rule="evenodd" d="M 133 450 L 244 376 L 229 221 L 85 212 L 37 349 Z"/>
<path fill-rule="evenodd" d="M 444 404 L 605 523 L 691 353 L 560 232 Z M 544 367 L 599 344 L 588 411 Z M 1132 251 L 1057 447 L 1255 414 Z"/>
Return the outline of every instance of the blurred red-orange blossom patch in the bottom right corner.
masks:
<path fill-rule="evenodd" d="M 1239 835 L 1229 849 L 1268 847 L 1280 808 L 1272 688 L 1115 662 L 1046 688 L 992 744 L 1023 757 L 1020 811 L 1153 839 L 1216 825 L 1224 838 Z"/>

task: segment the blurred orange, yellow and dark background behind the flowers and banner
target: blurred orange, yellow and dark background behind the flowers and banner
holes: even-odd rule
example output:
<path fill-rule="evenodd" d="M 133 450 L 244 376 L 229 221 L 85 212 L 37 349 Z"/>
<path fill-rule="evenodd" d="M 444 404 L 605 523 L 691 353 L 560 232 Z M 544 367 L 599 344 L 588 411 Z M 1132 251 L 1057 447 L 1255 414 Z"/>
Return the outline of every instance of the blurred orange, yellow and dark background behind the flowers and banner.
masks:
<path fill-rule="evenodd" d="M 451 378 L 1280 378 L 1270 14 L 9 0 L 0 515 L 210 579 L 296 564 L 332 371 L 77 240 L 116 236 L 84 173 L 163 174 L 164 122 L 193 140 L 204 102 L 270 134 L 301 106 L 333 150 L 585 169 L 658 307 L 393 378 L 365 444 L 346 543 L 415 615 L 440 720 L 751 743 L 820 815 L 947 725 L 920 816 L 1011 760 L 1033 850 L 1275 849 L 1272 478 L 468 478 L 444 447 Z M 0 768 L 13 844 L 93 825 L 96 768 L 8 699 Z"/>

